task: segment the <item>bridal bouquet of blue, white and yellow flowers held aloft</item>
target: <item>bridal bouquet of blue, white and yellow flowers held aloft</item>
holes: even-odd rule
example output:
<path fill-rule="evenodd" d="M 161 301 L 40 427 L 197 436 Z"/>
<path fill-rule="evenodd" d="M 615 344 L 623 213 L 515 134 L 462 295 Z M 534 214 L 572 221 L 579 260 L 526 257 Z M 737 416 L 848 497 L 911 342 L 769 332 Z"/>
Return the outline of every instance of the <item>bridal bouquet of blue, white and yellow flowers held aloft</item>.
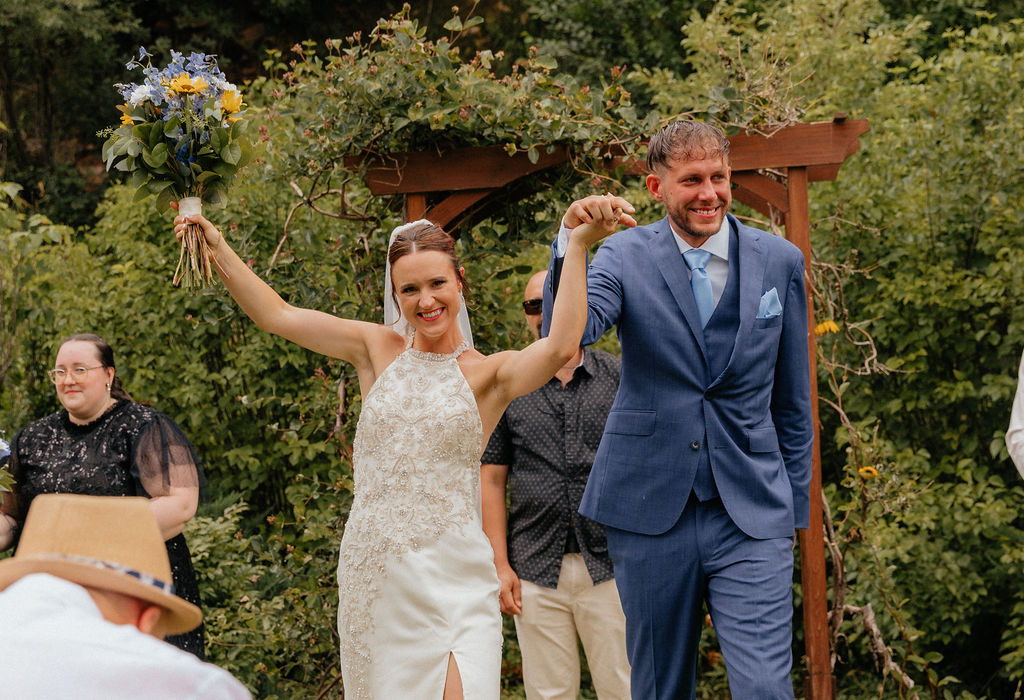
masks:
<path fill-rule="evenodd" d="M 126 68 L 141 69 L 142 82 L 115 86 L 125 100 L 118 106 L 121 126 L 100 132 L 106 137 L 102 159 L 108 170 L 131 174 L 136 201 L 154 194 L 158 209 L 177 201 L 180 214 L 200 214 L 203 202 L 223 202 L 239 168 L 252 158 L 242 93 L 212 55 L 186 58 L 172 50 L 163 70 L 152 59 L 140 48 Z M 173 283 L 195 290 L 212 281 L 206 238 L 189 225 Z"/>

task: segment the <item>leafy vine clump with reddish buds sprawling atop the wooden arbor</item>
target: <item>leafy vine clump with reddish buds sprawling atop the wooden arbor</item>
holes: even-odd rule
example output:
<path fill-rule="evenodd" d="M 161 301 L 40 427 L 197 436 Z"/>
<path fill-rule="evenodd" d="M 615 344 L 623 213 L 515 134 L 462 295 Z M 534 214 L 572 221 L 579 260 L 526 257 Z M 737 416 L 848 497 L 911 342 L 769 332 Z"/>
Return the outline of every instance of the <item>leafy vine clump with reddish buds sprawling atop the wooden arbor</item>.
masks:
<path fill-rule="evenodd" d="M 447 37 L 428 40 L 407 8 L 365 39 L 328 41 L 326 56 L 305 45 L 289 63 L 276 107 L 307 119 L 304 144 L 290 151 L 296 169 L 312 166 L 307 177 L 315 177 L 345 157 L 481 144 L 525 151 L 534 162 L 555 145 L 593 157 L 651 126 L 638 122 L 617 75 L 592 89 L 556 77 L 556 62 L 536 51 L 502 77 L 490 51 L 464 57 L 457 43 L 472 24 L 457 14 Z"/>

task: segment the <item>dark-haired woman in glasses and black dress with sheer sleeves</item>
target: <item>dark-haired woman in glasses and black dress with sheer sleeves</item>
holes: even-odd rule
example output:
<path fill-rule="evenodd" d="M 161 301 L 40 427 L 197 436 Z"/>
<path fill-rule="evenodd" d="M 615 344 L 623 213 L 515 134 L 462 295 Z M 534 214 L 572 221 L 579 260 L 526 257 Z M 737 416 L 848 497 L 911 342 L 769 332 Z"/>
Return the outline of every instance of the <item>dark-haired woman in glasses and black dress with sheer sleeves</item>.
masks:
<path fill-rule="evenodd" d="M 188 438 L 167 415 L 132 400 L 116 375 L 114 350 L 99 336 L 65 339 L 47 374 L 63 408 L 11 441 L 8 471 L 15 484 L 0 505 L 0 550 L 16 543 L 41 493 L 144 496 L 167 543 L 175 593 L 199 605 L 181 534 L 196 515 L 202 478 Z M 202 625 L 167 641 L 204 658 Z"/>

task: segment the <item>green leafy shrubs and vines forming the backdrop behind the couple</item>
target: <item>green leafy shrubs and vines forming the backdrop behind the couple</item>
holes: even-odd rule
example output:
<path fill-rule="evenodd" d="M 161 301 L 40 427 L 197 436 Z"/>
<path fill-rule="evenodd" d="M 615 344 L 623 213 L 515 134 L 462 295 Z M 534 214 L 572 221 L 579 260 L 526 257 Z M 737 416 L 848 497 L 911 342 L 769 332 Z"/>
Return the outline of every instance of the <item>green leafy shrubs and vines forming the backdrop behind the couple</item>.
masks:
<path fill-rule="evenodd" d="M 265 154 L 217 218 L 292 303 L 374 320 L 385 236 L 399 216 L 345 157 L 566 146 L 575 170 L 537 178 L 538 193 L 510 192 L 504 210 L 460 231 L 476 341 L 489 352 L 526 341 L 522 282 L 544 264 L 565 203 L 595 189 L 581 172 L 598 143 L 631 148 L 658 115 L 708 113 L 765 132 L 835 112 L 867 118 L 871 130 L 838 180 L 811 188 L 817 317 L 840 329 L 818 341 L 821 451 L 833 603 L 870 606 L 893 666 L 879 665 L 863 618 L 847 614 L 835 635 L 838 695 L 1012 697 L 1024 680 L 1024 489 L 1002 432 L 1024 345 L 1024 27 L 972 15 L 978 3 L 965 0 L 929 10 L 933 20 L 973 17 L 943 34 L 897 4 L 718 3 L 687 18 L 670 3 L 658 30 L 685 19 L 684 54 L 658 43 L 650 61 L 629 59 L 642 68 L 625 76 L 594 62 L 594 75 L 610 78 L 589 91 L 542 57 L 575 35 L 553 32 L 503 74 L 509 61 L 474 43 L 480 27 L 465 14 L 430 41 L 403 12 L 323 55 L 311 44 L 288 61 L 271 55 L 247 89 L 261 105 L 254 126 Z M 580 40 L 607 46 L 586 7 L 557 7 L 560 27 L 593 28 Z M 623 62 L 635 55 L 631 41 Z M 577 70 L 602 51 L 618 62 L 600 48 L 582 52 Z M 639 218 L 659 216 L 638 181 L 610 185 Z M 211 657 L 259 697 L 330 695 L 333 568 L 359 408 L 352 369 L 257 331 L 221 290 L 191 298 L 170 288 L 169 213 L 133 203 L 128 187 L 110 189 L 98 223 L 79 232 L 2 190 L 0 426 L 14 431 L 55 408 L 42 369 L 60 337 L 104 335 L 129 391 L 181 423 L 205 458 L 212 500 L 188 536 Z M 698 692 L 722 697 L 724 670 L 705 637 Z M 511 644 L 505 662 L 505 692 L 516 697 Z"/>

